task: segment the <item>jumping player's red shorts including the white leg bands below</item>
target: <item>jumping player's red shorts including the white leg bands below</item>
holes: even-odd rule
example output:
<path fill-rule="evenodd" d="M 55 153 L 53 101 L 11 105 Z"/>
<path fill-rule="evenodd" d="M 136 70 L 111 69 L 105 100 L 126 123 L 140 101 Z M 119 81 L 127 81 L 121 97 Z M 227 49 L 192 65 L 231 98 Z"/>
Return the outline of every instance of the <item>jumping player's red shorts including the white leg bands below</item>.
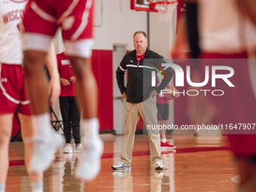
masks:
<path fill-rule="evenodd" d="M 94 0 L 31 0 L 23 17 L 23 50 L 47 52 L 62 28 L 66 54 L 90 58 L 93 46 Z"/>

